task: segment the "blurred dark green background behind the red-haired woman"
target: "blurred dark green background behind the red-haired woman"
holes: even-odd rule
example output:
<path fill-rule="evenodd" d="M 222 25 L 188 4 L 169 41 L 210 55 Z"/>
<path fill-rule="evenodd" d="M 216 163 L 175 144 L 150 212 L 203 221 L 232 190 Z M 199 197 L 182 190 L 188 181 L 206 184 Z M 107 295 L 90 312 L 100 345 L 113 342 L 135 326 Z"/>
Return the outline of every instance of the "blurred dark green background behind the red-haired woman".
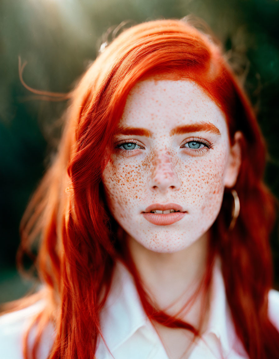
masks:
<path fill-rule="evenodd" d="M 257 112 L 270 154 L 266 182 L 279 198 L 279 1 L 276 0 L 2 0 L 0 2 L 0 302 L 23 295 L 30 282 L 15 270 L 18 227 L 59 136 L 66 102 L 42 101 L 35 89 L 68 92 L 94 60 L 108 29 L 125 20 L 203 18 Z M 271 236 L 279 288 L 278 220 Z"/>

